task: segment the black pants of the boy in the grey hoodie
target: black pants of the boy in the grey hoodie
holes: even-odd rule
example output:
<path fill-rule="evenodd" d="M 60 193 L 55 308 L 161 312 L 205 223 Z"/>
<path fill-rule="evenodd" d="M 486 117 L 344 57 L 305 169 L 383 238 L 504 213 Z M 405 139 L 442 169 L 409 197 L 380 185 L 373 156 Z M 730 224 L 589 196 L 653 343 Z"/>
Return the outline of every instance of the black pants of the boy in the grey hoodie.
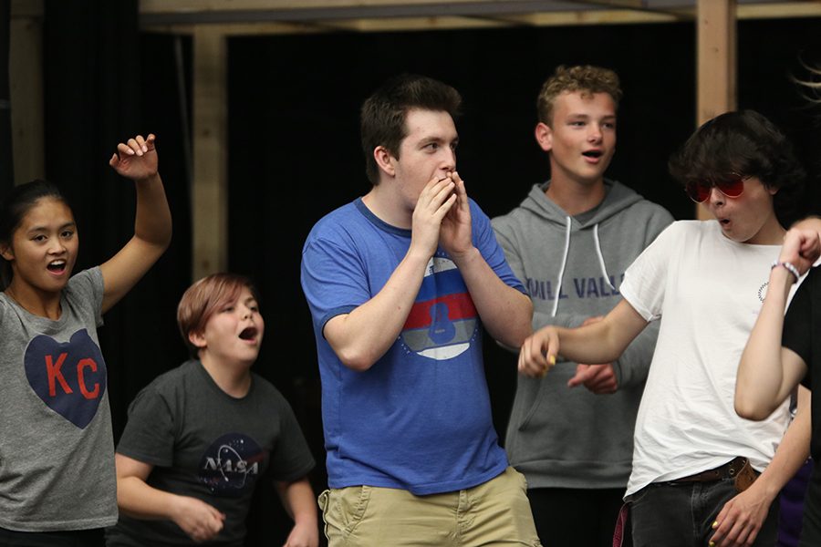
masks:
<path fill-rule="evenodd" d="M 548 547 L 611 547 L 624 489 L 527 490 L 536 532 Z M 623 547 L 630 547 L 629 533 Z"/>

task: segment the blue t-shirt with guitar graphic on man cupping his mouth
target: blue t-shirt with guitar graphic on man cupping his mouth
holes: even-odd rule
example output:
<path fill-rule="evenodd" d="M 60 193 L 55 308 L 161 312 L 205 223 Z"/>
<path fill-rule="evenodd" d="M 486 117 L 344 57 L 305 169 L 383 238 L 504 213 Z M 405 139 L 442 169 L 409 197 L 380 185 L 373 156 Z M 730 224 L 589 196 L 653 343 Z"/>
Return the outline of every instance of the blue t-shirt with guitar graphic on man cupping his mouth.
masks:
<path fill-rule="evenodd" d="M 473 201 L 473 244 L 505 284 L 524 293 Z M 484 378 L 482 327 L 462 274 L 438 249 L 393 346 L 364 372 L 342 364 L 323 335 L 336 315 L 368 302 L 411 245 L 361 200 L 317 222 L 302 258 L 322 378 L 328 485 L 367 484 L 424 495 L 472 488 L 507 467 Z"/>

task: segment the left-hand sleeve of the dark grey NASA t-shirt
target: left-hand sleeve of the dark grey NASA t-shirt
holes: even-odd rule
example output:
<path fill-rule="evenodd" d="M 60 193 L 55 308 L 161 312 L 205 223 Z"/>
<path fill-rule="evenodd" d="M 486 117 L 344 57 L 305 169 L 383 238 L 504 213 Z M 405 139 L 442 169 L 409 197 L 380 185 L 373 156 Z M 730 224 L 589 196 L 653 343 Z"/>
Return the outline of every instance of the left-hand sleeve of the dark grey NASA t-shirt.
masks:
<path fill-rule="evenodd" d="M 171 405 L 154 385 L 149 385 L 130 404 L 129 421 L 117 452 L 153 466 L 171 467 L 174 438 Z"/>

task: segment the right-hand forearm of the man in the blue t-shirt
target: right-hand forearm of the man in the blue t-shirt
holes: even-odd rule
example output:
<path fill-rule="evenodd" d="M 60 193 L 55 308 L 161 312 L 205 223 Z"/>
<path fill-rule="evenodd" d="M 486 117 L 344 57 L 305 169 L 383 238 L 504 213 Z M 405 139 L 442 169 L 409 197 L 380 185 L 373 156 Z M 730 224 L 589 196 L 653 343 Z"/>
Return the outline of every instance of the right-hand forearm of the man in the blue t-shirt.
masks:
<path fill-rule="evenodd" d="M 488 333 L 505 346 L 521 346 L 533 332 L 530 298 L 505 284 L 477 248 L 452 258 Z"/>

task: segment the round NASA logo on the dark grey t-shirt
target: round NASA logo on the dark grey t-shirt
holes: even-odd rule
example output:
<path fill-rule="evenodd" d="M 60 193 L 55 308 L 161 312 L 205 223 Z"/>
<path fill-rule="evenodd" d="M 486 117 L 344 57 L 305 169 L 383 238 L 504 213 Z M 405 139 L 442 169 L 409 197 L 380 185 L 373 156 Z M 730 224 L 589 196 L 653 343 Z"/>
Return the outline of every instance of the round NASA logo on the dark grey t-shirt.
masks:
<path fill-rule="evenodd" d="M 254 488 L 265 456 L 265 450 L 254 439 L 242 433 L 227 433 L 205 450 L 199 480 L 215 496 L 242 496 Z"/>

